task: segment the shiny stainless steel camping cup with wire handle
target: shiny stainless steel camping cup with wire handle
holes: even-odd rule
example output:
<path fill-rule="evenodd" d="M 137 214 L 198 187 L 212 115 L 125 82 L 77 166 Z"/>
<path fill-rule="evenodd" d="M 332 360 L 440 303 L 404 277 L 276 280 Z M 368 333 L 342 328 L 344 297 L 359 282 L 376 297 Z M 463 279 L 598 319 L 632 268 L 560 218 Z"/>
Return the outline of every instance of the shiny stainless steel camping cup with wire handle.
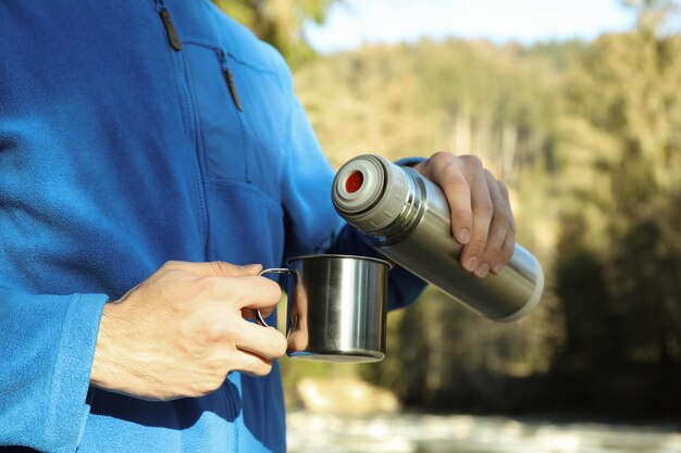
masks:
<path fill-rule="evenodd" d="M 286 354 L 325 362 L 377 362 L 385 356 L 387 272 L 379 259 L 307 255 L 288 267 Z M 259 311 L 258 322 L 268 326 Z"/>

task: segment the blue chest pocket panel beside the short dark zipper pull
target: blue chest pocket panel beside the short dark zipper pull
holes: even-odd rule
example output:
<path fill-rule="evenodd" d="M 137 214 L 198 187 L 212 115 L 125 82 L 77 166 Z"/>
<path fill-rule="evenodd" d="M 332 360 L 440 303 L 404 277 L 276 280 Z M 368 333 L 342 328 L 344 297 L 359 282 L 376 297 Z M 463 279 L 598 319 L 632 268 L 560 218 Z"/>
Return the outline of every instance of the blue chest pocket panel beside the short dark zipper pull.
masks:
<path fill-rule="evenodd" d="M 238 74 L 220 48 L 184 47 L 198 117 L 198 136 L 209 178 L 250 181 L 252 140 L 237 90 Z"/>

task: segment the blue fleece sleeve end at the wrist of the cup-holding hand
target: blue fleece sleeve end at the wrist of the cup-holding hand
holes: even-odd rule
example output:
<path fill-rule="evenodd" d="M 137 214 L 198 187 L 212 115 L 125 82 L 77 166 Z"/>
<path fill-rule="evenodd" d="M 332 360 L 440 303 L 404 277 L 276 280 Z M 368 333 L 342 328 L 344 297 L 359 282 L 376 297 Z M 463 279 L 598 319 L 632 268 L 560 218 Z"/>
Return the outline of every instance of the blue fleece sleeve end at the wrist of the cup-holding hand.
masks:
<path fill-rule="evenodd" d="M 0 288 L 0 445 L 76 450 L 107 299 Z"/>

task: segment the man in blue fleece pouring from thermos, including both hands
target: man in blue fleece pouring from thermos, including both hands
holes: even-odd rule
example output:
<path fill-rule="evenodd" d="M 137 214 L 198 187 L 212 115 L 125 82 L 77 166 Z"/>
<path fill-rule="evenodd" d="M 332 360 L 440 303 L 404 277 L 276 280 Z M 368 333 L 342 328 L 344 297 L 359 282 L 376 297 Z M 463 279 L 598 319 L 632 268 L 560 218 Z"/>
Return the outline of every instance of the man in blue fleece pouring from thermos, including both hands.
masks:
<path fill-rule="evenodd" d="M 285 339 L 244 317 L 281 292 L 257 274 L 372 252 L 284 61 L 201 0 L 4 1 L 0 42 L 0 445 L 285 450 Z M 470 156 L 417 168 L 463 266 L 497 272 L 504 186 Z M 392 274 L 410 303 L 423 284 Z"/>

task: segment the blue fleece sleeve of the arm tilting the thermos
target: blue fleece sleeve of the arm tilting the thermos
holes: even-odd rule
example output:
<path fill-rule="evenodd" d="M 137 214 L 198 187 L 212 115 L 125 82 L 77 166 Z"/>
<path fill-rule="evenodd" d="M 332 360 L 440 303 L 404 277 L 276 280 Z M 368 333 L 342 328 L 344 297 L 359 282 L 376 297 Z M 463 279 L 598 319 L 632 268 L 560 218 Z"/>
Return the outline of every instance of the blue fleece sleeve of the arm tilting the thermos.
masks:
<path fill-rule="evenodd" d="M 307 114 L 293 93 L 290 81 L 288 87 L 287 96 L 290 96 L 293 109 L 284 150 L 287 155 L 283 177 L 287 257 L 309 253 L 379 256 L 335 212 L 331 202 L 334 171 L 322 152 Z M 424 287 L 423 280 L 395 266 L 388 280 L 389 309 L 410 304 Z"/>

